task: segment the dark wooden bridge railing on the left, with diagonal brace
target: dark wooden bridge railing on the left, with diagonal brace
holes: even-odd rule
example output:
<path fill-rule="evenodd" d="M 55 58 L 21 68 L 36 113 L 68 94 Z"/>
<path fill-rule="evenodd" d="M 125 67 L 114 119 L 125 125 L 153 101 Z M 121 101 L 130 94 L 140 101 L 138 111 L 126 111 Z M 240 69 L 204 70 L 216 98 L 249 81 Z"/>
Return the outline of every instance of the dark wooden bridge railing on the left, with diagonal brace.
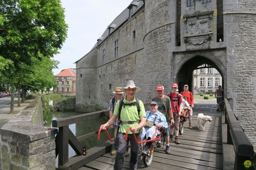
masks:
<path fill-rule="evenodd" d="M 98 156 L 102 155 L 103 152 L 108 152 L 112 149 L 112 143 L 104 142 L 104 147 L 98 147 L 94 149 L 94 155 L 92 153 L 82 156 L 83 146 L 79 140 L 94 136 L 98 134 L 98 131 L 85 134 L 83 136 L 76 137 L 68 125 L 73 123 L 79 123 L 82 121 L 89 121 L 90 119 L 96 119 L 99 117 L 105 117 L 109 115 L 109 110 L 97 111 L 92 113 L 86 113 L 82 115 L 76 115 L 72 117 L 66 117 L 63 119 L 57 119 L 52 121 L 52 127 L 59 128 L 58 134 L 55 139 L 56 143 L 56 157 L 58 157 L 58 169 L 77 169 L 84 164 L 94 160 Z M 104 131 L 103 131 L 104 132 Z M 74 149 L 77 157 L 68 158 L 68 144 Z M 98 155 L 100 154 L 100 155 Z M 104 153 L 103 153 L 104 154 Z"/>

